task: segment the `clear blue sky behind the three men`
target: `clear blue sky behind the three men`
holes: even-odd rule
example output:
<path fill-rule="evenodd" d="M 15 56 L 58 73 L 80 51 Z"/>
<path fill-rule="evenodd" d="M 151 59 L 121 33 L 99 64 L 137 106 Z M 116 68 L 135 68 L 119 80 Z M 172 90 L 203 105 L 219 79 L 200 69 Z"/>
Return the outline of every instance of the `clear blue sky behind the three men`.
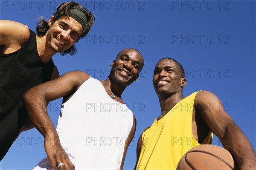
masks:
<path fill-rule="evenodd" d="M 23 23 L 35 31 L 37 17 L 49 19 L 62 2 L 1 0 L 0 19 Z M 145 60 L 139 80 L 122 95 L 137 118 L 124 169 L 134 168 L 138 138 L 160 115 L 152 76 L 157 61 L 164 57 L 183 65 L 187 78 L 184 96 L 201 89 L 213 92 L 256 149 L 254 0 L 77 2 L 96 15 L 96 22 L 87 37 L 76 44 L 76 55 L 53 56 L 61 75 L 82 70 L 94 78 L 105 79 L 110 63 L 124 48 L 138 49 Z M 48 106 L 55 126 L 60 108 L 61 99 Z M 32 169 L 46 155 L 43 140 L 35 129 L 21 133 L 0 162 L 0 169 Z M 216 137 L 213 144 L 221 146 Z"/>

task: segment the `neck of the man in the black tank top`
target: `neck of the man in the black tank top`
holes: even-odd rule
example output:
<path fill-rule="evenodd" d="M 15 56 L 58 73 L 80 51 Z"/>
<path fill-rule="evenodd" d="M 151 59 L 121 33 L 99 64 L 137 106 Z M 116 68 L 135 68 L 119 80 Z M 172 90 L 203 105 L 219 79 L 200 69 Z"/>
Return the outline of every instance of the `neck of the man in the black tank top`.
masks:
<path fill-rule="evenodd" d="M 46 36 L 36 36 L 38 55 L 40 56 L 42 63 L 48 63 L 52 56 L 56 54 L 56 52 L 54 52 L 49 46 L 47 46 L 45 37 Z"/>

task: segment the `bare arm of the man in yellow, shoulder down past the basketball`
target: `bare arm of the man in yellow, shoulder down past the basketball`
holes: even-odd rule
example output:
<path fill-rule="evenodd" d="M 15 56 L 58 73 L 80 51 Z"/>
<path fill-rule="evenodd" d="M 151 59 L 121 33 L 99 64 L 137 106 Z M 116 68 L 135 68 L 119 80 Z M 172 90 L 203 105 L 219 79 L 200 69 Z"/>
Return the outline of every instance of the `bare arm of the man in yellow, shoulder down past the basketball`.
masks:
<path fill-rule="evenodd" d="M 207 91 L 199 92 L 195 98 L 195 109 L 196 113 L 201 114 L 209 129 L 220 139 L 224 148 L 235 156 L 240 170 L 256 168 L 256 155 L 250 141 L 224 111 L 216 95 Z"/>

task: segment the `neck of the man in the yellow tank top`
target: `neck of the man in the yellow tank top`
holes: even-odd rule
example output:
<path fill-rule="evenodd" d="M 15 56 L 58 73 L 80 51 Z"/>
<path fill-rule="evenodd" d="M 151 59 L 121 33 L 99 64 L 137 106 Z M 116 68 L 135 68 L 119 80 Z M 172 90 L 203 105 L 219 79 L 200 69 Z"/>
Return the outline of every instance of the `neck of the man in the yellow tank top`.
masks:
<path fill-rule="evenodd" d="M 165 115 L 168 113 L 179 101 L 181 101 L 183 98 L 183 91 L 177 92 L 173 95 L 171 95 L 169 98 L 159 98 L 159 103 L 161 107 L 161 115 Z"/>

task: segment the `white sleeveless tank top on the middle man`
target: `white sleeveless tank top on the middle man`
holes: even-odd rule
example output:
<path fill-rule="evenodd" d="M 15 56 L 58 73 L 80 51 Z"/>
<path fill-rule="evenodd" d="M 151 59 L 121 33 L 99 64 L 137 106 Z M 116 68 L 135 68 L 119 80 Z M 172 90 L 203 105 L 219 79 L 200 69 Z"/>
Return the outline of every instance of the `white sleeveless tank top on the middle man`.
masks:
<path fill-rule="evenodd" d="M 100 81 L 89 78 L 62 104 L 57 132 L 76 170 L 119 170 L 132 125 L 132 111 L 110 98 Z M 44 168 L 44 160 L 38 169 Z"/>

